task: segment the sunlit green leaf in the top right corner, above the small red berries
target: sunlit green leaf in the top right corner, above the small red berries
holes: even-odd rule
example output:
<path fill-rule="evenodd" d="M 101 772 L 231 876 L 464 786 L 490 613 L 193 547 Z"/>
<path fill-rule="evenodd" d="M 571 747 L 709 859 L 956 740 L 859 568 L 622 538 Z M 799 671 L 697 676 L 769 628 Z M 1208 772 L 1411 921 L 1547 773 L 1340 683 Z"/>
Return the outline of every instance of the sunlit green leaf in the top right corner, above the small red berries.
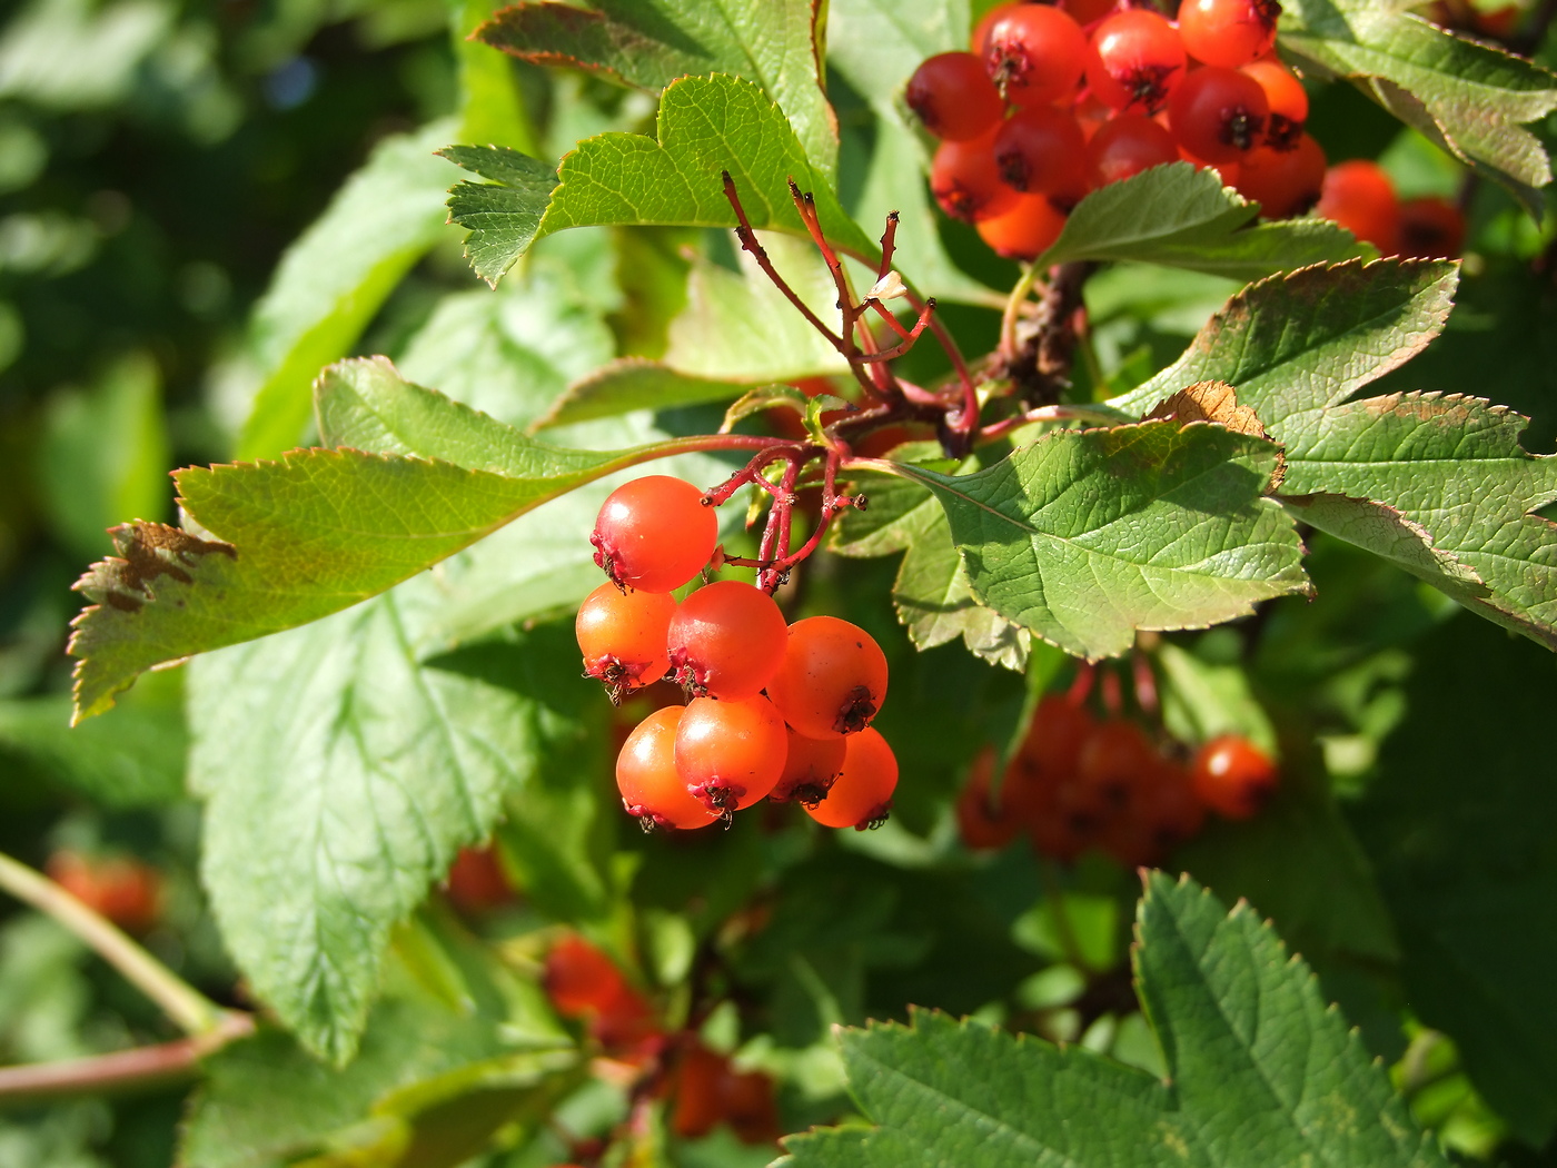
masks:
<path fill-rule="evenodd" d="M 1521 123 L 1557 109 L 1557 76 L 1495 45 L 1445 31 L 1397 5 L 1294 0 L 1283 55 L 1319 76 L 1348 78 L 1540 215 L 1551 182 L 1540 139 Z"/>

